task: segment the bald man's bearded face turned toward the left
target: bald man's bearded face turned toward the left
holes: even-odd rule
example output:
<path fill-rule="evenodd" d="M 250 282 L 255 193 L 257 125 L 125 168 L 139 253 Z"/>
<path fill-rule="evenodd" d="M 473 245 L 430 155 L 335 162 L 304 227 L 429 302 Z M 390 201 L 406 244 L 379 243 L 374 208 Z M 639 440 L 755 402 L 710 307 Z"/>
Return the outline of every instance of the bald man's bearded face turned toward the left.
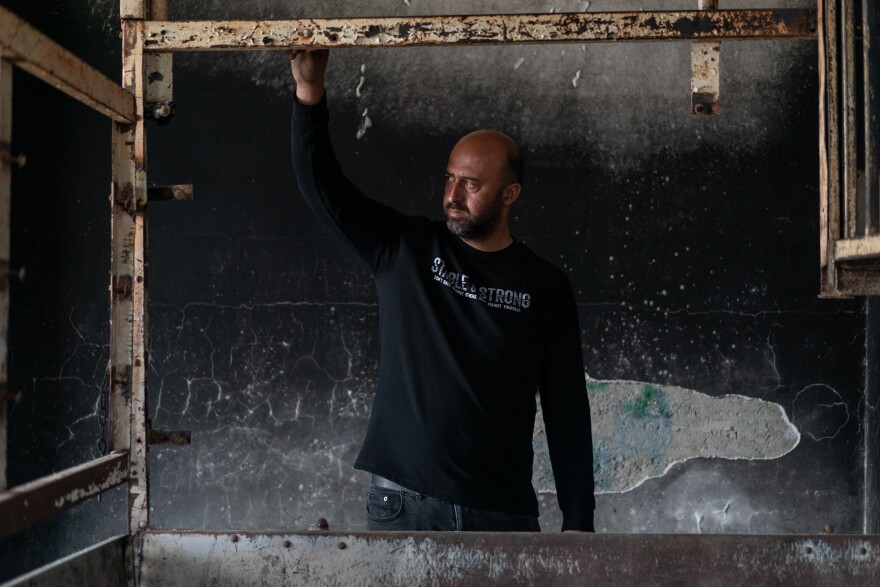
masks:
<path fill-rule="evenodd" d="M 465 239 L 491 235 L 503 222 L 503 148 L 484 137 L 469 135 L 449 155 L 443 190 L 446 226 Z"/>

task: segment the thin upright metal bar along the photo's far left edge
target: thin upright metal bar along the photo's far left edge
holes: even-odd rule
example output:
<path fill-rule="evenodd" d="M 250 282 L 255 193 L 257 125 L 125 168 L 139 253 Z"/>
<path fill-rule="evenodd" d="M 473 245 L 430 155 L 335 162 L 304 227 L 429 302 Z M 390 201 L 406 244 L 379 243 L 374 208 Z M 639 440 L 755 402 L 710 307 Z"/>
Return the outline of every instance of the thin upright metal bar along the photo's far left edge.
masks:
<path fill-rule="evenodd" d="M 12 64 L 0 48 L 0 260 L 6 261 L 5 274 L 0 275 L 3 285 L 9 280 L 10 209 L 12 203 L 12 161 L 4 157 L 3 149 L 12 145 Z M 6 363 L 9 349 L 6 335 L 9 330 L 9 288 L 0 288 L 0 491 L 6 489 Z"/>

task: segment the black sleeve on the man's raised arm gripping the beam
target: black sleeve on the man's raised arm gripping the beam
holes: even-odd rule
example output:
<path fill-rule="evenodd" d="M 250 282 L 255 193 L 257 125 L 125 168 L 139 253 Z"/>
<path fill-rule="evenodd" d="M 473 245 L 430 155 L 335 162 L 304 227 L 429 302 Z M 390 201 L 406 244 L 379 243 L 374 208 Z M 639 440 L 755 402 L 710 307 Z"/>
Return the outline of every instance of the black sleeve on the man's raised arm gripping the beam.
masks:
<path fill-rule="evenodd" d="M 375 273 L 400 247 L 402 214 L 368 198 L 342 173 L 330 141 L 326 94 L 308 106 L 293 99 L 291 155 L 312 212 Z"/>

